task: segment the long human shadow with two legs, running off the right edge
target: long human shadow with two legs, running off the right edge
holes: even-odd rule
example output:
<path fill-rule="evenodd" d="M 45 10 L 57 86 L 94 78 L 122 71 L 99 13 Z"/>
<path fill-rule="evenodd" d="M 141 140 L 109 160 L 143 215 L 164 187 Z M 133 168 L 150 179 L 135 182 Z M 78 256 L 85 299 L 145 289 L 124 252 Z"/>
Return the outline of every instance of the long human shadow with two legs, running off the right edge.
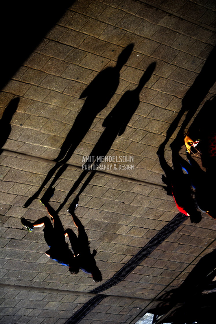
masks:
<path fill-rule="evenodd" d="M 182 99 L 182 108 L 178 112 L 174 121 L 170 124 L 167 132 L 166 138 L 164 142 L 159 146 L 159 148 L 165 148 L 165 145 L 168 143 L 172 134 L 175 132 L 179 121 L 186 111 L 187 114 L 185 116 L 184 121 L 180 127 L 180 130 L 176 136 L 176 140 L 173 141 L 174 145 L 178 145 L 180 143 L 183 144 L 183 133 L 188 125 L 188 122 L 191 120 L 199 105 L 203 101 L 203 99 L 208 94 L 210 88 L 214 85 L 216 81 L 216 46 L 210 52 L 205 64 L 203 65 L 199 75 L 196 77 L 192 86 L 188 89 L 185 96 Z M 180 139 L 180 141 L 179 141 Z"/>

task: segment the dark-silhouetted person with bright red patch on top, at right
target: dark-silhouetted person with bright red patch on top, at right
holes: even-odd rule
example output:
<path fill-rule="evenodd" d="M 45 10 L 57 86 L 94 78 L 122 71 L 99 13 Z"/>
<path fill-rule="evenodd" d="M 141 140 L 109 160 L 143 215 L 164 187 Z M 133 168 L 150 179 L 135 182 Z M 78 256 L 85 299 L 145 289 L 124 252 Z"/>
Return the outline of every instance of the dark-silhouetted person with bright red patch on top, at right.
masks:
<path fill-rule="evenodd" d="M 202 217 L 200 212 L 195 208 L 191 182 L 188 174 L 185 174 L 182 170 L 178 149 L 172 149 L 173 168 L 166 162 L 164 150 L 158 150 L 157 154 L 160 165 L 165 172 L 162 180 L 167 185 L 167 187 L 164 187 L 167 194 L 173 196 L 179 212 L 189 216 L 191 223 L 199 223 Z"/>

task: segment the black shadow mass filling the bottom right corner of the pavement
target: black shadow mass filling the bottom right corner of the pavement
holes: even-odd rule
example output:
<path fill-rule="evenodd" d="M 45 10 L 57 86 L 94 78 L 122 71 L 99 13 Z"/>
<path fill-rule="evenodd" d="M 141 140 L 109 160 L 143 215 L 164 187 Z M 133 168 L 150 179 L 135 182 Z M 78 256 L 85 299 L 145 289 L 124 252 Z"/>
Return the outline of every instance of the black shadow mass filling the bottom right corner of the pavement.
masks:
<path fill-rule="evenodd" d="M 207 291 L 215 289 L 215 275 L 216 249 L 199 260 L 179 288 L 158 298 L 161 303 L 149 311 L 154 314 L 153 324 L 213 323 L 216 292 Z"/>

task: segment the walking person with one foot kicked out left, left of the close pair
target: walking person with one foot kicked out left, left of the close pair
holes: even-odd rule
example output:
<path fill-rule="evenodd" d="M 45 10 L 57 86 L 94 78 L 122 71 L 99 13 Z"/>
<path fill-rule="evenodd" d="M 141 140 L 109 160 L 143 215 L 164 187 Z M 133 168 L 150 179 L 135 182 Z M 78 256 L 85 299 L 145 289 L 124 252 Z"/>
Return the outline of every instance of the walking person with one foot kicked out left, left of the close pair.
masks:
<path fill-rule="evenodd" d="M 46 197 L 47 198 L 47 197 Z M 46 207 L 49 215 L 53 220 L 54 227 L 48 216 L 44 216 L 34 223 L 29 222 L 24 217 L 21 218 L 22 224 L 27 228 L 29 232 L 33 231 L 35 227 L 42 227 L 44 232 L 44 239 L 47 245 L 50 247 L 45 253 L 51 259 L 68 266 L 69 271 L 74 274 L 79 272 L 74 254 L 69 249 L 68 244 L 65 242 L 64 228 L 59 215 L 48 203 L 48 199 L 41 198 L 41 203 Z"/>

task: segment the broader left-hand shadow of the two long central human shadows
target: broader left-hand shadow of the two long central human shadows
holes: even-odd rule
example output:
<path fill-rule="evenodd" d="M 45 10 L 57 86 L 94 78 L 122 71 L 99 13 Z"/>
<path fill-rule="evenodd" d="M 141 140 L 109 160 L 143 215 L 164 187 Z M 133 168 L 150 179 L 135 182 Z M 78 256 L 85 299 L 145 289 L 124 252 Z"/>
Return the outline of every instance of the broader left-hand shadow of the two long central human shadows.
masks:
<path fill-rule="evenodd" d="M 80 98 L 86 97 L 85 103 L 78 113 L 71 130 L 67 134 L 59 155 L 53 160 L 57 163 L 49 170 L 40 188 L 24 204 L 25 207 L 28 207 L 30 203 L 38 197 L 58 168 L 60 169 L 55 174 L 49 188 L 51 188 L 63 174 L 67 168 L 66 163 L 90 129 L 97 114 L 107 106 L 116 92 L 119 86 L 120 70 L 129 59 L 132 50 L 133 44 L 129 44 L 125 47 L 119 54 L 116 66 L 108 67 L 101 71 L 82 92 Z"/>

